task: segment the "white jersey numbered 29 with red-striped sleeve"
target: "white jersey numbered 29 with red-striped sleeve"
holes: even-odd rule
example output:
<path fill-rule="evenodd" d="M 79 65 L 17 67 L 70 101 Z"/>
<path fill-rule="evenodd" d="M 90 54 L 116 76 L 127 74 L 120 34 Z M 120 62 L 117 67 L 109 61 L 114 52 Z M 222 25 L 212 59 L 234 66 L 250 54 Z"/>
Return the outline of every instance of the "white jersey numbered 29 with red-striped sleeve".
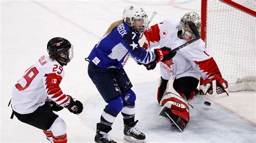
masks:
<path fill-rule="evenodd" d="M 20 114 L 32 113 L 48 99 L 61 106 L 69 104 L 69 97 L 59 87 L 63 77 L 63 67 L 49 55 L 43 55 L 12 89 L 12 109 Z"/>

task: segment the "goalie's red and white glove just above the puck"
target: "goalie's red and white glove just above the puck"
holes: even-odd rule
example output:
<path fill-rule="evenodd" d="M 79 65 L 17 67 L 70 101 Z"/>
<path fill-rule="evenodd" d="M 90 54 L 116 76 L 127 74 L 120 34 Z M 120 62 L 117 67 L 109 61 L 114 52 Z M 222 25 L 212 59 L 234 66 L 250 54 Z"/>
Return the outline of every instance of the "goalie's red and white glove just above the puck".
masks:
<path fill-rule="evenodd" d="M 229 94 L 228 83 L 219 74 L 204 80 L 199 90 L 203 95 L 211 98 L 227 97 Z"/>

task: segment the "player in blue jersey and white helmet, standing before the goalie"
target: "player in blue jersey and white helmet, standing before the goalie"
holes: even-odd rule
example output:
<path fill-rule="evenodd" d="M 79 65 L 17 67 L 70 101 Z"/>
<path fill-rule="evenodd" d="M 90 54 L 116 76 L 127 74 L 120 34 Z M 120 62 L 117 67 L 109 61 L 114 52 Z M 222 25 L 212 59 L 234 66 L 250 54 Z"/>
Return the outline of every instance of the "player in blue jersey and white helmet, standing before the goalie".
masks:
<path fill-rule="evenodd" d="M 139 5 L 126 6 L 123 19 L 110 25 L 105 35 L 93 47 L 87 59 L 90 60 L 88 74 L 100 95 L 107 103 L 97 124 L 96 142 L 114 142 L 107 134 L 114 119 L 121 111 L 124 120 L 124 139 L 143 141 L 145 134 L 134 121 L 136 95 L 122 63 L 127 55 L 137 62 L 147 64 L 170 60 L 176 54 L 169 54 L 163 47 L 146 51 L 138 44 L 140 33 L 148 27 L 145 10 Z"/>

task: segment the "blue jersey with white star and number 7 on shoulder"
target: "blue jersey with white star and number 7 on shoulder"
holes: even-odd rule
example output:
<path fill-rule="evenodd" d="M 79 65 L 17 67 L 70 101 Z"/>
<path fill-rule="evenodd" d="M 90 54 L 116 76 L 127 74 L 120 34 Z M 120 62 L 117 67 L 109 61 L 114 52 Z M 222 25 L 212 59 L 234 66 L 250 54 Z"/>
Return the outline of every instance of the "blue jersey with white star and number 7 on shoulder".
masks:
<path fill-rule="evenodd" d="M 101 68 L 123 68 L 122 63 L 127 54 L 140 63 L 149 63 L 156 56 L 153 51 L 146 51 L 139 46 L 139 35 L 129 25 L 122 23 L 100 39 L 88 59 Z"/>

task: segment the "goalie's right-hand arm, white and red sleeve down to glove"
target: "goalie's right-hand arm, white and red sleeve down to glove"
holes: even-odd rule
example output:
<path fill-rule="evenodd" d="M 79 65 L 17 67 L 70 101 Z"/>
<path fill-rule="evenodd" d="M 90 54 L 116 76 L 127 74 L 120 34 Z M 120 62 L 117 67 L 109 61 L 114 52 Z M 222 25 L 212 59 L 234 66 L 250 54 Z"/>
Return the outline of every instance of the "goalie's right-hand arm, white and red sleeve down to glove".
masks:
<path fill-rule="evenodd" d="M 199 89 L 204 95 L 213 98 L 228 96 L 228 83 L 221 76 L 217 63 L 206 50 L 203 42 L 199 43 L 198 48 L 186 47 L 181 53 L 199 69 L 202 78 Z"/>

